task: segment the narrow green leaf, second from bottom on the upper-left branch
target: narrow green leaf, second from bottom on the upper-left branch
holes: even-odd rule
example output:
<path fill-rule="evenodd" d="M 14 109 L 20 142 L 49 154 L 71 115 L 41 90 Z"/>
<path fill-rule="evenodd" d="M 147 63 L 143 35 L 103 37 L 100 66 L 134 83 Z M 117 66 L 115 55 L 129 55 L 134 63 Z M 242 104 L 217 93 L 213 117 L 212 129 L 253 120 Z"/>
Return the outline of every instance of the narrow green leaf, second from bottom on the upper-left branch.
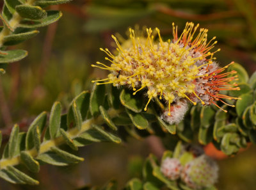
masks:
<path fill-rule="evenodd" d="M 32 38 L 33 36 L 37 35 L 39 31 L 33 30 L 28 31 L 26 33 L 19 33 L 19 34 L 12 34 L 8 36 L 4 36 L 4 45 L 16 45 L 20 42 L 23 42 L 25 40 L 28 40 L 29 38 Z"/>

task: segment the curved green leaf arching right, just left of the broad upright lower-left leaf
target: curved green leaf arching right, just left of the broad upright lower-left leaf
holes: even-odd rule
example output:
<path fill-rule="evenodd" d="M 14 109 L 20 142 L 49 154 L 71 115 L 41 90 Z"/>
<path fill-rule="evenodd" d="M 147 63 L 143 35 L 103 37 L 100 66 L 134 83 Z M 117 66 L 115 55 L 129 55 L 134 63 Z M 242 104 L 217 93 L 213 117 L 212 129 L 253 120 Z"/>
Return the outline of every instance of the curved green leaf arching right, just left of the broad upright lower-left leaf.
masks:
<path fill-rule="evenodd" d="M 34 138 L 33 138 L 33 136 L 35 134 L 34 130 L 35 130 L 36 126 L 38 126 L 38 129 L 41 133 L 45 126 L 46 119 L 47 119 L 47 113 L 44 111 L 40 115 L 38 115 L 35 118 L 35 120 L 31 123 L 31 125 L 29 126 L 27 136 L 26 136 L 26 150 L 30 150 L 31 148 L 33 148 L 35 146 Z"/>

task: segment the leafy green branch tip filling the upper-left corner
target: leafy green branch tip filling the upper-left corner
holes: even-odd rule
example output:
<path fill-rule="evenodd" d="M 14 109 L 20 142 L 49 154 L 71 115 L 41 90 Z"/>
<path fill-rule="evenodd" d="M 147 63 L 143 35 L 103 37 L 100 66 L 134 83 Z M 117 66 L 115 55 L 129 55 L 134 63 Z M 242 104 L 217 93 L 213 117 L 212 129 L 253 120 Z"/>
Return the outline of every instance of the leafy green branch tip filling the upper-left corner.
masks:
<path fill-rule="evenodd" d="M 59 11 L 45 11 L 45 6 L 67 3 L 69 0 L 57 1 L 18 1 L 4 0 L 1 19 L 3 28 L 0 31 L 0 48 L 16 45 L 38 34 L 35 28 L 47 26 L 60 19 Z M 33 29 L 33 30 L 31 30 Z M 12 63 L 25 58 L 28 52 L 12 50 L 0 52 L 0 63 Z"/>

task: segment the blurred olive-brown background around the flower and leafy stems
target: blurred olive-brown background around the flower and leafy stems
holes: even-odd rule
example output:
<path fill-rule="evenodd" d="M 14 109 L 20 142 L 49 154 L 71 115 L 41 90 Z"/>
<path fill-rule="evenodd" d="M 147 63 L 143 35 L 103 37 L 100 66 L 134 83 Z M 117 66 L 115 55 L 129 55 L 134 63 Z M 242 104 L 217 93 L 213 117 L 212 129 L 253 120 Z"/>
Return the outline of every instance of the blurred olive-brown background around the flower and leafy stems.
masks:
<path fill-rule="evenodd" d="M 2 7 L 3 1 L 0 3 Z M 200 23 L 216 36 L 220 65 L 231 61 L 243 65 L 249 75 L 256 70 L 255 0 L 76 0 L 52 6 L 63 17 L 40 34 L 10 49 L 25 49 L 27 58 L 12 63 L 0 79 L 0 128 L 8 139 L 14 123 L 26 131 L 42 111 L 50 111 L 55 100 L 64 109 L 83 90 L 90 90 L 92 78 L 108 73 L 90 67 L 104 61 L 100 47 L 113 49 L 111 34 L 124 38 L 127 28 L 159 28 L 164 39 L 172 38 L 172 22 L 182 31 L 186 22 Z M 170 134 L 170 138 L 172 135 Z M 159 139 L 129 138 L 122 145 L 98 143 L 79 149 L 85 161 L 68 167 L 42 166 L 34 177 L 38 187 L 17 186 L 0 180 L 0 189 L 79 189 L 86 184 L 101 186 L 112 178 L 123 187 L 130 177 L 140 177 L 143 159 L 150 152 L 158 157 L 164 148 Z M 219 159 L 218 189 L 256 188 L 256 147 L 235 157 Z"/>

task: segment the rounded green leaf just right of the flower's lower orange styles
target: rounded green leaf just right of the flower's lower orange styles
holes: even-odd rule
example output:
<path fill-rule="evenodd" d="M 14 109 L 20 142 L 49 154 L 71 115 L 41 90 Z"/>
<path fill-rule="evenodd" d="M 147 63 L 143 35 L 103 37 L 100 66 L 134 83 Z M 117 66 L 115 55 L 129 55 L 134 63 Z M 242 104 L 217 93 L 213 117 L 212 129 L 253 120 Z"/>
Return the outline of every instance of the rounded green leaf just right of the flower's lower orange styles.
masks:
<path fill-rule="evenodd" d="M 246 93 L 241 95 L 239 98 L 241 99 L 236 102 L 236 112 L 238 116 L 242 116 L 246 107 L 253 104 L 253 95 L 252 93 Z"/>

